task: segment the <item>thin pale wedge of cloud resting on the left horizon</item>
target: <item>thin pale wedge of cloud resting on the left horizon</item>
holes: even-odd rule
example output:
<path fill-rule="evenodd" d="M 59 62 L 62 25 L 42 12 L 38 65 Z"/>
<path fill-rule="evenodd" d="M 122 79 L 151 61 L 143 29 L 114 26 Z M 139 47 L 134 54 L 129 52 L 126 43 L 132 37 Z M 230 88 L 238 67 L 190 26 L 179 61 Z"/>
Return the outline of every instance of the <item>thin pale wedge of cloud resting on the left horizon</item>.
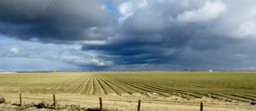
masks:
<path fill-rule="evenodd" d="M 52 61 L 42 58 L 0 57 L 0 69 L 3 71 L 36 71 L 36 70 L 77 70 L 81 67 L 64 61 Z"/>

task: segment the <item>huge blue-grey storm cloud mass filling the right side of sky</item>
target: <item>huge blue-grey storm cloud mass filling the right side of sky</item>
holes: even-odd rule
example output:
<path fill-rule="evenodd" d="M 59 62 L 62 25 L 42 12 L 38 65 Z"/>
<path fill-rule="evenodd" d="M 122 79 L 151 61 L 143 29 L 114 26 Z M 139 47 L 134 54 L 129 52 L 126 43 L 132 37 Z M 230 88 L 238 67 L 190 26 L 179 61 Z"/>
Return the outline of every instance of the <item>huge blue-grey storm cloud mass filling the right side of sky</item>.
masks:
<path fill-rule="evenodd" d="M 251 3 L 248 1 L 248 4 L 252 5 Z M 255 2 L 253 3 L 255 5 Z M 114 4 L 122 6 L 122 3 Z M 134 8 L 136 1 L 127 2 L 124 7 L 129 7 L 129 4 Z M 106 56 L 99 57 L 106 61 L 113 61 L 118 65 L 148 65 L 148 69 L 154 69 L 152 65 L 159 64 L 167 67 L 170 64 L 173 65 L 171 67 L 180 66 L 183 70 L 246 69 L 247 65 L 243 64 L 239 58 L 241 56 L 237 55 L 244 55 L 241 50 L 244 50 L 245 54 L 252 50 L 245 46 L 240 46 L 244 49 L 237 50 L 237 44 L 248 43 L 244 41 L 248 36 L 239 38 L 234 33 L 241 26 L 241 23 L 237 22 L 247 20 L 234 20 L 232 17 L 239 14 L 247 17 L 252 15 L 239 11 L 243 6 L 237 7 L 237 4 L 237 1 L 148 1 L 145 8 L 134 11 L 132 16 L 122 22 L 116 36 L 105 45 L 84 45 L 83 50 L 101 50 Z M 248 10 L 252 10 L 252 7 Z M 243 64 L 244 67 L 241 68 L 237 64 Z M 130 69 L 136 67 L 138 68 L 137 65 L 130 66 Z"/>

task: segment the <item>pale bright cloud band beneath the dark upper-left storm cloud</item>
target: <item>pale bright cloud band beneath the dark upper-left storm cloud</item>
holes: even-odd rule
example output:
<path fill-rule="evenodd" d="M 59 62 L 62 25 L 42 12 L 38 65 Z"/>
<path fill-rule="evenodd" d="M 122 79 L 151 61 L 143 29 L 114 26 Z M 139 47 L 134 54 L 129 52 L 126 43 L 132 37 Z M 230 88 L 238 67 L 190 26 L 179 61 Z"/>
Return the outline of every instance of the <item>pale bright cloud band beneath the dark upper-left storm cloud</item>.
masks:
<path fill-rule="evenodd" d="M 100 43 L 97 41 L 87 41 L 91 44 Z M 10 47 L 10 50 L 6 50 L 6 46 Z M 19 47 L 17 47 L 19 46 Z M 20 51 L 22 48 L 22 52 Z M 26 64 L 26 67 L 11 66 L 12 64 L 8 64 L 8 67 L 3 68 L 16 68 L 18 70 L 28 70 L 28 69 L 38 69 L 38 70 L 70 70 L 70 68 L 65 66 L 72 66 L 71 70 L 78 69 L 86 69 L 91 68 L 92 66 L 107 66 L 111 62 L 104 61 L 97 56 L 101 55 L 98 51 L 87 50 L 83 51 L 81 49 L 81 45 L 60 45 L 60 44 L 51 44 L 51 43 L 40 43 L 40 42 L 31 42 L 31 41 L 1 41 L 0 44 L 0 68 L 1 66 L 6 66 L 7 64 L 3 61 L 17 61 L 20 62 L 19 65 L 23 61 L 28 61 L 31 65 Z M 12 55 L 13 54 L 13 55 Z M 6 56 L 7 55 L 7 56 Z M 40 63 L 51 63 L 47 66 L 33 66 L 35 65 L 35 61 L 40 61 Z M 61 64 L 63 68 L 58 67 L 55 64 Z M 51 67 L 52 66 L 52 67 Z"/>

